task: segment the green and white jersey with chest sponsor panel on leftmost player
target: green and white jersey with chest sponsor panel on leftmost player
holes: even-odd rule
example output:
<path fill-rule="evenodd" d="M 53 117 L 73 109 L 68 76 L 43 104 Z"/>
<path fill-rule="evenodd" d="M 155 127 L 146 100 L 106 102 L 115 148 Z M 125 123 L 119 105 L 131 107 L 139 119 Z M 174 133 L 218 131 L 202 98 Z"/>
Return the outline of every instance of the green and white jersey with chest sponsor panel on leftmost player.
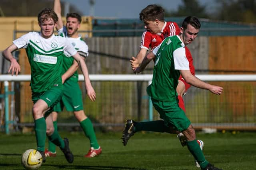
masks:
<path fill-rule="evenodd" d="M 71 56 L 76 50 L 65 38 L 58 35 L 45 39 L 38 32 L 29 32 L 13 41 L 25 48 L 31 67 L 30 86 L 32 92 L 45 92 L 52 86 L 62 86 L 61 70 L 63 53 Z"/>

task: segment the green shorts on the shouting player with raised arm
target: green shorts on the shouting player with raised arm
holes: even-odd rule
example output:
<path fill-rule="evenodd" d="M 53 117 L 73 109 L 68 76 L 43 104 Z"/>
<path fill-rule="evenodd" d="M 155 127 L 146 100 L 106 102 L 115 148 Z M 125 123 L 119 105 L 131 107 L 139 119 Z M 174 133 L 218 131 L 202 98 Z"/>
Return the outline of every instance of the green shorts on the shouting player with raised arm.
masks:
<path fill-rule="evenodd" d="M 83 110 L 82 92 L 78 82 L 67 80 L 63 84 L 63 95 L 60 102 L 54 107 L 54 111 L 63 111 L 64 106 L 67 111 L 80 111 Z"/>

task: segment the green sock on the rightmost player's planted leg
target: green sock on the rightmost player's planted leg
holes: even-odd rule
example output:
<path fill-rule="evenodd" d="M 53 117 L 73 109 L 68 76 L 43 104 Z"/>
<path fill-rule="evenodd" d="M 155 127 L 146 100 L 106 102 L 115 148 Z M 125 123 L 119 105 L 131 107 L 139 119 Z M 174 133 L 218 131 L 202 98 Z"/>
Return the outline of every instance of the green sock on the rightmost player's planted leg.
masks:
<path fill-rule="evenodd" d="M 205 168 L 208 165 L 208 161 L 204 158 L 204 154 L 202 150 L 200 149 L 200 146 L 198 145 L 197 141 L 186 141 L 188 150 L 194 158 L 197 160 L 197 162 L 200 164 L 201 168 Z"/>

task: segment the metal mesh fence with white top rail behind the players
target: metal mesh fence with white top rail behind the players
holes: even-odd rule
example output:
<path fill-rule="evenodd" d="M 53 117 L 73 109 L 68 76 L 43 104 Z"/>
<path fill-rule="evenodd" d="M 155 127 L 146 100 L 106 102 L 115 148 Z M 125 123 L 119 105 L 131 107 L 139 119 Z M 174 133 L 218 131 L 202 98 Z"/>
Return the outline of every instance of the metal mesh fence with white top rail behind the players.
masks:
<path fill-rule="evenodd" d="M 84 84 L 81 89 L 84 96 L 84 110 L 95 127 L 102 131 L 120 130 L 126 119 L 136 121 L 157 120 L 159 115 L 153 109 L 146 94 L 151 76 L 146 75 L 91 75 L 92 85 L 96 91 L 96 102 L 90 102 L 86 97 Z M 186 115 L 196 129 L 215 128 L 225 130 L 256 130 L 256 76 L 255 75 L 197 75 L 205 81 L 224 87 L 220 96 L 211 94 L 207 90 L 190 88 L 184 96 Z M 15 77 L 0 76 L 0 81 L 14 80 Z M 16 77 L 16 84 L 30 80 Z M 22 81 L 20 81 L 22 79 Z M 80 80 L 83 77 L 80 75 Z M 18 88 L 18 86 L 16 86 Z M 243 100 L 240 100 L 240 99 Z M 5 100 L 7 101 L 7 100 Z M 10 119 L 10 129 L 20 129 L 34 125 L 32 117 L 32 101 L 22 101 L 26 113 L 15 112 Z M 19 121 L 23 116 L 23 121 Z M 9 116 L 11 117 L 11 116 Z M 9 118 L 8 117 L 8 118 Z M 72 112 L 63 111 L 58 116 L 60 127 L 76 127 Z"/>

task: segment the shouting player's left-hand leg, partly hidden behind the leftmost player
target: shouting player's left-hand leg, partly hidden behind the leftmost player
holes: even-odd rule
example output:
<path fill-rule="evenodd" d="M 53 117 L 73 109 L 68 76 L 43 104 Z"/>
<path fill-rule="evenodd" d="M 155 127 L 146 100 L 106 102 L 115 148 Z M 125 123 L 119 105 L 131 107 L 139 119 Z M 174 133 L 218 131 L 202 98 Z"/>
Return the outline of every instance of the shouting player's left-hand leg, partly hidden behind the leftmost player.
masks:
<path fill-rule="evenodd" d="M 58 126 L 57 126 L 58 113 L 56 111 L 53 111 L 51 113 L 51 115 L 52 115 L 53 127 L 54 127 L 54 129 L 56 129 L 58 131 Z M 45 149 L 44 152 L 45 152 L 45 156 L 46 157 L 48 157 L 48 156 L 55 157 L 57 155 L 57 153 L 56 153 L 56 145 L 54 143 L 52 143 L 50 140 L 48 140 L 48 149 Z"/>

